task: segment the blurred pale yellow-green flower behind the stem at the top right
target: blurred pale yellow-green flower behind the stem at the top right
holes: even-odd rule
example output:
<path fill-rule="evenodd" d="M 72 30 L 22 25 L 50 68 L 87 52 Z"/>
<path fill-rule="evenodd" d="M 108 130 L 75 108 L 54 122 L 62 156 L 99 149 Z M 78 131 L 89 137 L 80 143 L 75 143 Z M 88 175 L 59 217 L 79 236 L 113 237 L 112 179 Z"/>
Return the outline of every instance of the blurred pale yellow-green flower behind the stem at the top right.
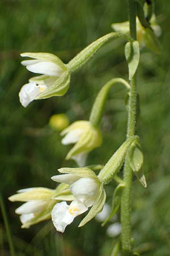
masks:
<path fill-rule="evenodd" d="M 143 27 L 141 22 L 139 21 L 138 17 L 136 18 L 136 23 L 137 23 L 137 40 L 138 40 L 140 46 L 144 47 L 146 45 L 147 47 L 150 48 L 150 43 L 148 43 L 148 39 L 151 36 L 150 29 Z M 114 31 L 121 32 L 124 34 L 130 34 L 129 21 L 113 23 L 111 26 Z M 150 20 L 150 26 L 151 26 L 152 30 L 154 31 L 155 36 L 159 37 L 161 35 L 161 28 L 156 23 L 155 15 L 152 15 L 152 18 Z M 151 47 L 153 47 L 153 45 Z"/>

